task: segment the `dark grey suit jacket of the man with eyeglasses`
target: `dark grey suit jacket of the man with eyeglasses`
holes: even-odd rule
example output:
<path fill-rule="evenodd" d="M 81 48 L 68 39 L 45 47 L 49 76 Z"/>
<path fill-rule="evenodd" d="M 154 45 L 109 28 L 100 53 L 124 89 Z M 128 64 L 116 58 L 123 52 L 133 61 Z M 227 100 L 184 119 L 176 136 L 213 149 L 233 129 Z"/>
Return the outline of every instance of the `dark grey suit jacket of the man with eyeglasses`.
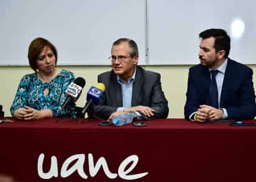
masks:
<path fill-rule="evenodd" d="M 101 119 L 108 119 L 113 112 L 116 112 L 117 107 L 122 107 L 122 88 L 117 82 L 114 71 L 98 75 L 98 82 L 104 83 L 106 90 L 99 100 L 99 106 L 94 107 L 94 115 Z M 159 73 L 137 66 L 132 89 L 132 106 L 149 106 L 154 109 L 154 116 L 150 119 L 168 116 L 168 101 L 162 91 Z"/>

